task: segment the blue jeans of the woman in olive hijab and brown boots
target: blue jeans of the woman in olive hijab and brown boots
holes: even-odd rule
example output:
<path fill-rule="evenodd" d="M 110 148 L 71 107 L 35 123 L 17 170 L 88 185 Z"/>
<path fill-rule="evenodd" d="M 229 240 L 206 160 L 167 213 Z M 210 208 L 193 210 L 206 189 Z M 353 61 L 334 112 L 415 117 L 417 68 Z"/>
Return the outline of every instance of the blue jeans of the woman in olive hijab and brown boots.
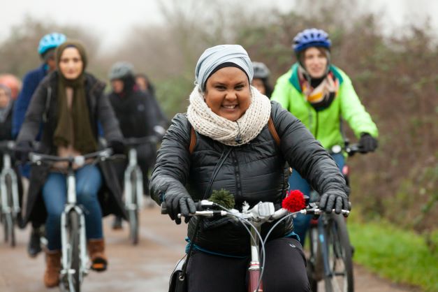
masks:
<path fill-rule="evenodd" d="M 77 204 L 85 214 L 87 239 L 103 238 L 102 210 L 97 193 L 102 175 L 97 166 L 86 165 L 75 171 Z M 61 249 L 61 213 L 67 200 L 66 175 L 50 173 L 43 187 L 43 199 L 48 212 L 45 233 L 48 249 Z"/>

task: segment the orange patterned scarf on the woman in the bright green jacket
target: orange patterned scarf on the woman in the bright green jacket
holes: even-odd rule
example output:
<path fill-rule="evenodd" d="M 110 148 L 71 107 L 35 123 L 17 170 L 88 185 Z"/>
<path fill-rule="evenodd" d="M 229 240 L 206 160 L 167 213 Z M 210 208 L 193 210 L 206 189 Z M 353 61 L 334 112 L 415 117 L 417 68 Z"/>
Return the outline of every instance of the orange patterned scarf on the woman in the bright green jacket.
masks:
<path fill-rule="evenodd" d="M 333 72 L 329 71 L 326 78 L 315 88 L 310 84 L 309 74 L 302 66 L 298 67 L 298 78 L 302 92 L 305 94 L 306 100 L 315 108 L 315 110 L 323 110 L 333 102 L 339 90 L 339 80 Z"/>

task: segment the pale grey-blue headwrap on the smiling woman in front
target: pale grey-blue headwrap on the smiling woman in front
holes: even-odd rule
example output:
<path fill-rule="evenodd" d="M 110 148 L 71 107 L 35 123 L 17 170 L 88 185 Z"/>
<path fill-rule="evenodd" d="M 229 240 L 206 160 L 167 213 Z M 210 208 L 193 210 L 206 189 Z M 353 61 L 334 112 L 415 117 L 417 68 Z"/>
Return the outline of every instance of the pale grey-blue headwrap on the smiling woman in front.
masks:
<path fill-rule="evenodd" d="M 216 45 L 200 55 L 195 69 L 195 84 L 203 90 L 212 71 L 224 63 L 238 65 L 247 74 L 249 82 L 252 81 L 254 69 L 247 51 L 241 45 Z"/>

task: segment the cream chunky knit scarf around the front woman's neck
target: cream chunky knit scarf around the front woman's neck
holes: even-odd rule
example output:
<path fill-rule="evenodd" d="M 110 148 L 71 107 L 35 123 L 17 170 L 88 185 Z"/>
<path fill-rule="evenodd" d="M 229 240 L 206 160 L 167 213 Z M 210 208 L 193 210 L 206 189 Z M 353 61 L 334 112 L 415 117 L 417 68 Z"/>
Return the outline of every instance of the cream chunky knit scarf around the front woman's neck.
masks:
<path fill-rule="evenodd" d="M 268 124 L 271 112 L 269 98 L 251 86 L 251 104 L 237 122 L 216 115 L 205 103 L 199 87 L 190 94 L 187 118 L 198 133 L 229 146 L 244 145 L 256 138 Z M 238 139 L 238 137 L 240 139 Z"/>

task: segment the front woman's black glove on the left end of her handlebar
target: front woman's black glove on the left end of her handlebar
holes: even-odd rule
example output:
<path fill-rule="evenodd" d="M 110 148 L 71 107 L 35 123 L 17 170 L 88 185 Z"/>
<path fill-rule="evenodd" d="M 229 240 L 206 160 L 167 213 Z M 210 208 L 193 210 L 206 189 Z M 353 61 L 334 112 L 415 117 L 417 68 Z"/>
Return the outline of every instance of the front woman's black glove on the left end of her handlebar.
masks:
<path fill-rule="evenodd" d="M 175 220 L 176 224 L 181 224 L 178 214 L 184 216 L 184 222 L 189 222 L 189 214 L 196 212 L 196 205 L 189 194 L 168 192 L 164 194 L 164 203 L 170 219 Z"/>

